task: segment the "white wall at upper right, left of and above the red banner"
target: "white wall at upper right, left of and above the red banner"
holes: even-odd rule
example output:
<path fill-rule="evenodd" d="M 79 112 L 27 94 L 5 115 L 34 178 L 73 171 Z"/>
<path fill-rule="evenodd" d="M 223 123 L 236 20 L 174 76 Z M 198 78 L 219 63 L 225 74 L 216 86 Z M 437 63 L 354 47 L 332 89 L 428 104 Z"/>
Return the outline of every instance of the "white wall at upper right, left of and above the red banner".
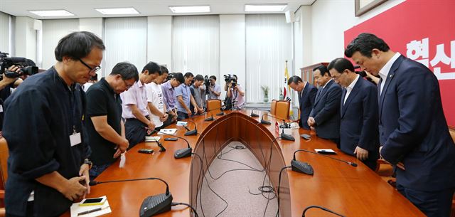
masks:
<path fill-rule="evenodd" d="M 311 6 L 311 64 L 344 56 L 344 31 L 405 0 L 386 1 L 363 16 L 355 17 L 352 0 L 317 0 Z"/>

